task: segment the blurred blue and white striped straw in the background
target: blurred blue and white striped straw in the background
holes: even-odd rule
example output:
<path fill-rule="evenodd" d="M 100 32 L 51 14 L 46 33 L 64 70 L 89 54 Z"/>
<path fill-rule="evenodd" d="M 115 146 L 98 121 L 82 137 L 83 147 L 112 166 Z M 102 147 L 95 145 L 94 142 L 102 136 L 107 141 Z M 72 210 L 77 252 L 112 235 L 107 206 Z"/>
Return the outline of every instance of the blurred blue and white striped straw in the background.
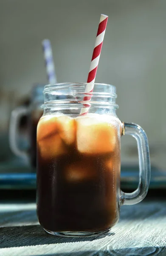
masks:
<path fill-rule="evenodd" d="M 48 39 L 42 41 L 43 53 L 45 58 L 45 67 L 49 84 L 56 84 L 55 67 L 53 63 L 53 54 L 51 49 L 51 42 Z"/>

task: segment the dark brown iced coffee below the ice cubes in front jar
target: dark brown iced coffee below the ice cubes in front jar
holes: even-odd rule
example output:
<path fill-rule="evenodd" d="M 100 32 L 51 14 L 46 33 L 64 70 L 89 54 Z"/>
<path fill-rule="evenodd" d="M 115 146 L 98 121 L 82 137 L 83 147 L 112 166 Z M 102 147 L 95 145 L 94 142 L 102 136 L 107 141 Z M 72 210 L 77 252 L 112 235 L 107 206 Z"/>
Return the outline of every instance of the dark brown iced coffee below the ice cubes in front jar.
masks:
<path fill-rule="evenodd" d="M 44 159 L 38 145 L 39 223 L 55 232 L 109 229 L 119 215 L 119 149 L 113 153 L 84 154 L 75 143 L 67 149 L 68 154 Z"/>

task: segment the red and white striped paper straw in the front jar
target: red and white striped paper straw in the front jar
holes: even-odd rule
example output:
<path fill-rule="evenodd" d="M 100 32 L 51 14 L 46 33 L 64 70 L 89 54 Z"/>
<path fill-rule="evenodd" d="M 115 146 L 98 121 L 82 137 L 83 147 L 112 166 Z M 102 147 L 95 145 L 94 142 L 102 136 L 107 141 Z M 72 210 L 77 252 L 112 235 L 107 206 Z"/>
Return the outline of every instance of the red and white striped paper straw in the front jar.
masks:
<path fill-rule="evenodd" d="M 90 70 L 87 77 L 87 85 L 85 87 L 85 93 L 93 92 L 94 82 L 96 79 L 96 72 L 98 68 L 98 61 L 100 58 L 105 29 L 107 26 L 107 20 L 108 20 L 108 16 L 101 14 L 100 23 L 98 25 L 98 31 L 96 35 L 95 47 L 93 49 L 92 60 L 90 63 Z M 90 99 L 91 99 L 90 95 L 84 96 L 84 101 L 89 101 Z M 90 108 L 90 105 L 84 104 L 84 107 L 81 109 L 80 115 L 86 115 L 88 113 L 89 108 Z"/>

